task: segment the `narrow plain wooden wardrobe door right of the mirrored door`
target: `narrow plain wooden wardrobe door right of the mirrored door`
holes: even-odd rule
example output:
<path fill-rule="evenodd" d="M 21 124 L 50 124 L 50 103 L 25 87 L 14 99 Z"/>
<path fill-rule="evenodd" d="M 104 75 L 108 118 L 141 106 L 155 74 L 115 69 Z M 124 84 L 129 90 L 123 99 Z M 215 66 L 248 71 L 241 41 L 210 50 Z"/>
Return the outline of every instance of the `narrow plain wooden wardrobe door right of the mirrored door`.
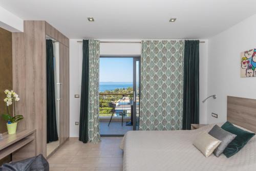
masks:
<path fill-rule="evenodd" d="M 59 44 L 59 82 L 61 99 L 59 103 L 59 141 L 69 138 L 69 47 Z"/>

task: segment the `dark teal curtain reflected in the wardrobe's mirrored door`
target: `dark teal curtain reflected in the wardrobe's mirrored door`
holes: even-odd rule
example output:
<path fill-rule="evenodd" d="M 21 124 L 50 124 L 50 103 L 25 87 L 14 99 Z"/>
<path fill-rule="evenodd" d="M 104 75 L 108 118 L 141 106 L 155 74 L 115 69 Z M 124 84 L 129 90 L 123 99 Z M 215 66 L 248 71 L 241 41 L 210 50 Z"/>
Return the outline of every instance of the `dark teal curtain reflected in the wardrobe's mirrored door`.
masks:
<path fill-rule="evenodd" d="M 47 143 L 58 140 L 55 105 L 54 55 L 52 40 L 46 40 Z"/>

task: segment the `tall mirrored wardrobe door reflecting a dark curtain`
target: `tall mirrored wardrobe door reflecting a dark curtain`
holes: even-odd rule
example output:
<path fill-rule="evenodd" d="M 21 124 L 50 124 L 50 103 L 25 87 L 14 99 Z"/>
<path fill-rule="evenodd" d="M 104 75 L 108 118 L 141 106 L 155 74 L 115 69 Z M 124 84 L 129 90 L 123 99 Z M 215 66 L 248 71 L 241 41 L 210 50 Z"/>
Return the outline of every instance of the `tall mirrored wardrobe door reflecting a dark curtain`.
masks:
<path fill-rule="evenodd" d="M 59 42 L 46 36 L 47 156 L 59 146 Z"/>

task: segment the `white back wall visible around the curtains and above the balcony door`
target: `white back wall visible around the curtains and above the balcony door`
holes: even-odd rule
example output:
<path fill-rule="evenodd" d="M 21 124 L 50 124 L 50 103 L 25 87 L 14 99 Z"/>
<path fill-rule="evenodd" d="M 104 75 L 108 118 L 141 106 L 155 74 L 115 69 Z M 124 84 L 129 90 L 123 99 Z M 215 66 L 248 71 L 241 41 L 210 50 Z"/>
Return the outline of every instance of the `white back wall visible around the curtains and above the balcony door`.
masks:
<path fill-rule="evenodd" d="M 80 95 L 81 91 L 81 66 L 82 66 L 82 43 L 80 39 L 70 39 L 70 137 L 79 136 L 80 98 L 75 98 L 75 94 Z M 115 40 L 102 40 L 115 41 Z M 140 41 L 140 40 L 116 40 L 116 41 Z M 207 58 L 208 41 L 200 44 L 200 101 L 207 95 Z M 101 43 L 101 55 L 134 55 L 141 54 L 141 44 L 120 44 Z M 206 103 L 200 102 L 200 123 L 207 122 Z"/>

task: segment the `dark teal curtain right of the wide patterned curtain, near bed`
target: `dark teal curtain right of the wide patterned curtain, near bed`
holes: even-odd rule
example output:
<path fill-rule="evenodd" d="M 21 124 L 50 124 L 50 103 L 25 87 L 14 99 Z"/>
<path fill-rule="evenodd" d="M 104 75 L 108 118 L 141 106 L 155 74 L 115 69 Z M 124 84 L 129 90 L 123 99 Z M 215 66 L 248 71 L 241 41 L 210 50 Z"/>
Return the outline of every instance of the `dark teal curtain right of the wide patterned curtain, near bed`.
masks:
<path fill-rule="evenodd" d="M 185 40 L 182 129 L 199 123 L 199 40 Z"/>

